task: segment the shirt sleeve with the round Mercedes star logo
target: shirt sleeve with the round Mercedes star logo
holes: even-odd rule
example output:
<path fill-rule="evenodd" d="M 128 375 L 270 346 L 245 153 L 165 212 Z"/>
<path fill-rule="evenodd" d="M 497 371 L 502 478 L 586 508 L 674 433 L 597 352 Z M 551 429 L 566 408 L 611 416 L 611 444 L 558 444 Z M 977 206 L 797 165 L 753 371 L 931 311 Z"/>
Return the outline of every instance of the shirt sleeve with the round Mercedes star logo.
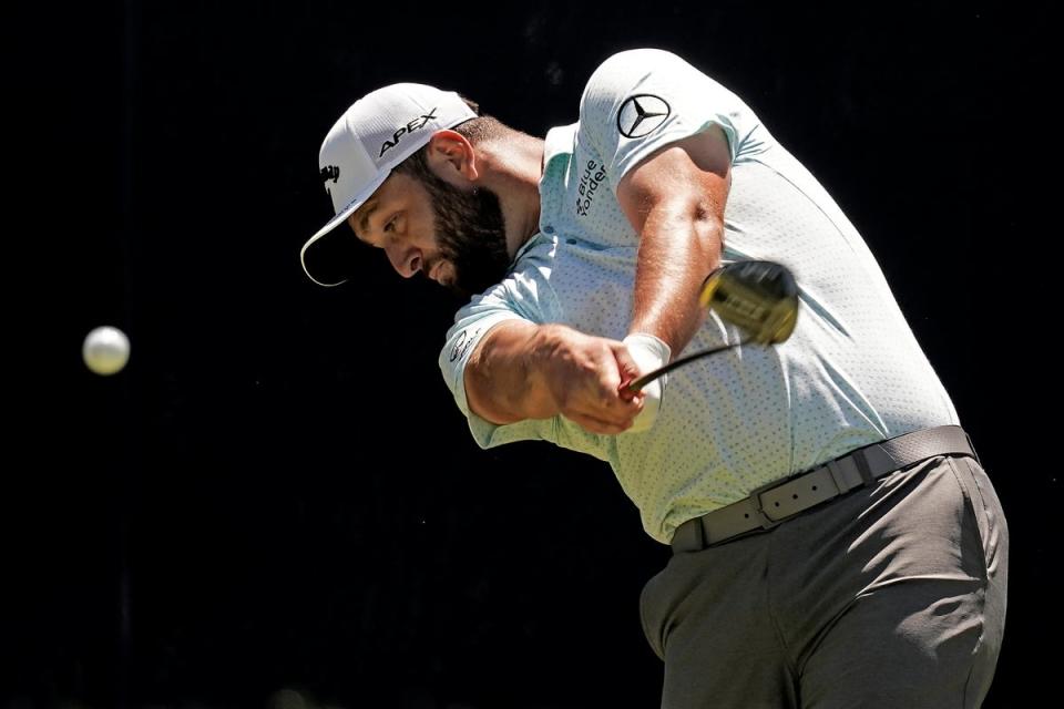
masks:
<path fill-rule="evenodd" d="M 595 70 L 580 102 L 577 140 L 597 153 L 616 191 L 654 151 L 710 125 L 737 154 L 741 101 L 686 61 L 656 49 L 614 54 Z"/>

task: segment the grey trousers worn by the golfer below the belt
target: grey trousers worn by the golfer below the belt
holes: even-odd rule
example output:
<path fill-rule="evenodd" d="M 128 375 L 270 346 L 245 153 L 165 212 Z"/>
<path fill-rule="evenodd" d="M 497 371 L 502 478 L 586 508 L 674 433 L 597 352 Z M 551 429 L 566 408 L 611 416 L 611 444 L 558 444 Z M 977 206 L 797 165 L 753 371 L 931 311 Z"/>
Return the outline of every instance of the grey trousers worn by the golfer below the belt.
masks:
<path fill-rule="evenodd" d="M 939 456 L 767 532 L 675 554 L 643 589 L 663 709 L 978 707 L 1009 531 L 980 464 Z"/>

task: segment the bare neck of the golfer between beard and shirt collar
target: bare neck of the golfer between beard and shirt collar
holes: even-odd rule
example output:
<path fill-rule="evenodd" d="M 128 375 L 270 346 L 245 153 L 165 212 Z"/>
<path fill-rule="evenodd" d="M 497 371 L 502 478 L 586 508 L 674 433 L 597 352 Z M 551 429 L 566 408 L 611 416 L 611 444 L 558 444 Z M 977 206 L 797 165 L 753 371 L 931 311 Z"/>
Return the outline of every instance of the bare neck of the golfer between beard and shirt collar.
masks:
<path fill-rule="evenodd" d="M 540 229 L 540 177 L 543 141 L 513 131 L 477 146 L 480 184 L 499 195 L 507 225 L 507 251 L 518 249 Z"/>

